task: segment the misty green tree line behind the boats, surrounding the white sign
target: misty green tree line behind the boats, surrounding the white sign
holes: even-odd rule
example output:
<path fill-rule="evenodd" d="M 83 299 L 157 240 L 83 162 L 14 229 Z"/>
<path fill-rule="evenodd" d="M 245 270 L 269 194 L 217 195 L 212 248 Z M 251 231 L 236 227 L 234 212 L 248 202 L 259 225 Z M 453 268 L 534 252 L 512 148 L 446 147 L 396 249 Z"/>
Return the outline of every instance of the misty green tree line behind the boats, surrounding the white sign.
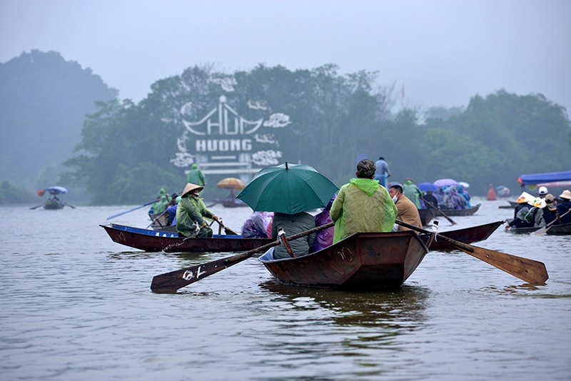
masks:
<path fill-rule="evenodd" d="M 514 186 L 522 173 L 571 167 L 565 109 L 541 95 L 475 96 L 465 110 L 434 110 L 420 123 L 420 111 L 389 112 L 392 88 L 378 86 L 376 73 L 342 76 L 335 65 L 297 71 L 260 65 L 233 73 L 235 88 L 221 91 L 216 81 L 229 77 L 211 66 L 194 66 L 153 83 L 137 105 L 98 103 L 62 181 L 84 184 L 98 204 L 140 203 L 161 187 L 181 191 L 185 175 L 171 163 L 184 131 L 181 110 L 198 120 L 221 95 L 251 120 L 259 114 L 249 101 L 263 101 L 267 113 L 288 115 L 292 123 L 275 131 L 281 161 L 308 163 L 339 186 L 354 176 L 360 153 L 385 156 L 390 181 L 450 177 L 472 184 L 473 194 L 485 194 L 490 183 Z M 207 182 L 218 180 L 211 176 Z"/>

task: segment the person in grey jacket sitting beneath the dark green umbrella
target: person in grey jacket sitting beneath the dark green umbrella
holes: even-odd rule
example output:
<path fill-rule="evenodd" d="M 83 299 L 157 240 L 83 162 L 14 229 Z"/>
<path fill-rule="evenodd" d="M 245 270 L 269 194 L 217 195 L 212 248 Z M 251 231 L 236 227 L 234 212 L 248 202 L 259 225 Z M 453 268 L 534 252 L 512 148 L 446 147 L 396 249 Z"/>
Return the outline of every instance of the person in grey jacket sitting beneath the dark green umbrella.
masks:
<path fill-rule="evenodd" d="M 278 230 L 282 228 L 286 236 L 295 235 L 298 233 L 303 233 L 305 230 L 310 230 L 315 228 L 315 220 L 313 215 L 307 212 L 286 214 L 286 213 L 273 213 L 272 220 L 272 239 L 278 239 Z M 309 254 L 309 249 L 313 246 L 315 242 L 316 233 L 311 233 L 300 237 L 296 240 L 290 240 L 289 244 L 293 254 L 296 257 L 302 257 L 303 255 Z M 285 249 L 284 245 L 278 245 L 273 249 L 273 258 L 291 258 L 288 250 Z"/>

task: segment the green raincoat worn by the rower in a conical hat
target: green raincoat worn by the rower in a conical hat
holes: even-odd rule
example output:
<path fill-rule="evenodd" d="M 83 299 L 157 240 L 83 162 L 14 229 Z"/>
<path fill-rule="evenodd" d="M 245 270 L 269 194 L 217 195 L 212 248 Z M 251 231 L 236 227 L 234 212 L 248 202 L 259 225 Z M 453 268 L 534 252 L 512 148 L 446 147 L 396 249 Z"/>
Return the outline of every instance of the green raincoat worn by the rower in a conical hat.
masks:
<path fill-rule="evenodd" d="M 176 207 L 176 230 L 185 237 L 212 237 L 212 229 L 208 226 L 206 218 L 213 218 L 212 213 L 201 198 L 188 193 L 181 198 Z M 194 233 L 193 223 L 196 221 L 201 230 L 198 235 Z"/>

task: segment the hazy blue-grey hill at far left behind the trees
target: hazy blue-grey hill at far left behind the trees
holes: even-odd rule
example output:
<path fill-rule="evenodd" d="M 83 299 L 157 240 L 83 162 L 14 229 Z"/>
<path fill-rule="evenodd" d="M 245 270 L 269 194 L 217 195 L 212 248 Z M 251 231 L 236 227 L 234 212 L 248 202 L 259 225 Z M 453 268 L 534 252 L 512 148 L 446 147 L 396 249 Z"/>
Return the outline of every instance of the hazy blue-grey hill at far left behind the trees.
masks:
<path fill-rule="evenodd" d="M 57 168 L 81 141 L 85 115 L 95 101 L 118 94 L 54 51 L 1 63 L 0 83 L 0 180 L 26 188 L 56 185 Z"/>

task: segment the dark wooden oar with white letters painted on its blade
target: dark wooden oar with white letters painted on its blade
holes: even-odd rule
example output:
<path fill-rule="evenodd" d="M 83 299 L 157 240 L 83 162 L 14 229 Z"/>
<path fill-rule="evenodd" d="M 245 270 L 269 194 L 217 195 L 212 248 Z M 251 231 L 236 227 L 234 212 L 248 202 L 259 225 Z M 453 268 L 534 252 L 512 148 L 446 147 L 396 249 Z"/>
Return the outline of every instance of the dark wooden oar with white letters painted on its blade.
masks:
<path fill-rule="evenodd" d="M 326 223 L 325 225 L 318 226 L 316 228 L 305 230 L 301 233 L 291 235 L 287 240 L 295 240 L 305 235 L 318 232 L 326 228 L 333 226 L 333 222 Z M 179 288 L 183 288 L 186 285 L 196 282 L 206 278 L 208 275 L 216 274 L 218 271 L 229 268 L 236 263 L 241 263 L 243 260 L 250 258 L 256 253 L 266 251 L 269 248 L 273 248 L 280 244 L 280 240 L 275 240 L 267 245 L 260 246 L 259 248 L 247 251 L 246 253 L 232 255 L 231 257 L 213 260 L 212 262 L 203 263 L 202 265 L 191 266 L 189 268 L 182 268 L 181 270 L 171 271 L 170 273 L 164 273 L 161 275 L 155 275 L 153 281 L 151 282 L 151 290 L 154 292 L 173 292 Z"/>

